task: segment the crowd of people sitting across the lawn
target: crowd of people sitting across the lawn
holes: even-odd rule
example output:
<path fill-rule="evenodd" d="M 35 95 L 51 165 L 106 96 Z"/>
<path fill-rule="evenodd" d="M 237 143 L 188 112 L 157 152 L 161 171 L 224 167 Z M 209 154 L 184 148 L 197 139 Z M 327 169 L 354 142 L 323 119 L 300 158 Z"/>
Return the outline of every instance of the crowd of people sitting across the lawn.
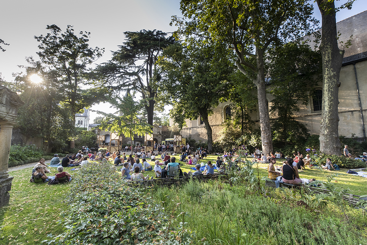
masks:
<path fill-rule="evenodd" d="M 160 149 L 161 145 L 156 146 L 157 149 Z M 54 158 L 51 159 L 50 165 L 47 166 L 45 164 L 44 159 L 41 159 L 39 163 L 37 163 L 32 170 L 32 179 L 33 181 L 37 179 L 37 181 L 47 181 L 50 179 L 54 179 L 55 177 L 49 177 L 51 167 L 62 167 L 61 172 L 57 173 L 58 177 L 64 177 L 64 175 L 70 177 L 71 175 L 67 172 L 63 172 L 65 167 L 77 168 L 83 165 L 87 165 L 90 161 L 100 161 L 100 162 L 109 162 L 113 161 L 113 164 L 121 170 L 121 176 L 123 179 L 127 181 L 144 181 L 153 179 L 154 175 L 156 178 L 167 178 L 173 176 L 198 176 L 198 175 L 207 175 L 214 174 L 214 169 L 219 173 L 224 173 L 226 168 L 236 167 L 239 169 L 237 163 L 239 156 L 239 152 L 242 149 L 239 147 L 239 151 L 236 151 L 234 148 L 231 151 L 224 152 L 224 155 L 218 156 L 217 161 L 215 163 L 211 163 L 211 161 L 207 161 L 206 164 L 199 163 L 199 161 L 203 161 L 203 159 L 207 158 L 208 151 L 205 148 L 198 148 L 196 151 L 192 151 L 188 144 L 181 145 L 182 153 L 179 156 L 179 161 L 183 162 L 183 164 L 193 165 L 193 169 L 195 171 L 188 173 L 182 172 L 180 168 L 180 164 L 176 162 L 175 153 L 170 156 L 170 152 L 159 152 L 155 154 L 153 150 L 145 151 L 143 148 L 140 149 L 140 152 L 135 152 L 135 154 L 127 155 L 126 152 L 106 151 L 106 154 L 99 151 L 87 151 L 90 150 L 88 147 L 83 148 L 84 151 L 78 151 L 76 154 L 66 155 L 60 161 L 58 154 L 54 155 Z M 306 149 L 307 150 L 307 149 Z M 308 151 L 309 152 L 309 151 Z M 304 156 L 302 152 L 297 151 L 293 154 L 293 158 L 287 158 L 286 161 L 283 161 L 283 165 L 277 167 L 276 159 L 284 158 L 284 155 L 281 152 L 270 152 L 269 154 L 261 153 L 258 148 L 255 148 L 253 154 L 245 154 L 248 156 L 252 156 L 254 159 L 253 162 L 268 164 L 268 177 L 269 179 L 275 180 L 279 176 L 283 176 L 284 182 L 287 183 L 301 183 L 299 180 L 298 172 L 304 171 L 306 167 L 313 167 L 315 163 L 312 162 L 312 158 L 310 154 L 306 154 Z M 351 157 L 348 152 L 348 145 L 345 145 L 344 155 L 346 157 Z M 177 156 L 178 157 L 178 156 Z M 363 152 L 363 156 L 360 158 L 361 161 L 366 161 L 367 153 Z M 161 161 L 161 162 L 160 162 Z M 150 162 L 150 163 L 149 163 Z M 326 164 L 321 165 L 326 170 L 335 170 L 334 164 L 330 158 L 327 158 Z M 58 168 L 59 170 L 59 168 Z M 143 173 L 153 171 L 154 174 L 149 177 L 143 176 Z M 31 179 L 31 181 L 32 181 Z M 301 181 L 301 182 L 300 182 Z"/>

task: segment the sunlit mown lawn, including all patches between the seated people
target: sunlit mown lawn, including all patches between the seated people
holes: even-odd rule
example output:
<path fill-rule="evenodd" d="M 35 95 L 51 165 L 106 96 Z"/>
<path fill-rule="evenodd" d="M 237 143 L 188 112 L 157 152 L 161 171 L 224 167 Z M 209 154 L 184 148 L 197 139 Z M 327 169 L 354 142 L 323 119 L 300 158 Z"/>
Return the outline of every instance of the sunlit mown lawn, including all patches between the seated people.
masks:
<path fill-rule="evenodd" d="M 209 155 L 207 159 L 198 161 L 207 163 L 208 160 L 215 163 L 218 155 Z M 176 156 L 179 158 L 179 156 Z M 278 161 L 278 165 L 281 165 Z M 154 162 L 148 161 L 152 166 Z M 182 162 L 180 162 L 182 163 Z M 111 166 L 113 162 L 110 162 Z M 259 174 L 267 176 L 266 164 L 259 164 Z M 193 170 L 194 165 L 183 163 L 181 169 L 183 172 Z M 256 165 L 254 165 L 256 167 Z M 10 192 L 10 203 L 8 206 L 0 208 L 0 244 L 40 244 L 47 239 L 47 234 L 61 234 L 63 226 L 56 224 L 60 213 L 68 208 L 68 204 L 63 202 L 68 195 L 69 184 L 47 185 L 29 183 L 32 168 L 22 169 L 11 172 L 14 177 L 12 189 Z M 54 175 L 57 170 L 51 168 Z M 73 174 L 73 171 L 66 170 Z M 256 171 L 256 170 L 255 170 Z M 331 173 L 346 173 L 346 169 L 338 171 L 326 171 Z M 144 176 L 154 176 L 153 171 L 145 172 Z M 307 168 L 299 173 L 301 178 L 316 178 L 317 180 L 326 180 L 324 174 L 318 169 Z M 349 193 L 356 195 L 367 194 L 367 179 L 351 174 L 344 174 L 336 177 L 338 187 L 349 188 Z"/>

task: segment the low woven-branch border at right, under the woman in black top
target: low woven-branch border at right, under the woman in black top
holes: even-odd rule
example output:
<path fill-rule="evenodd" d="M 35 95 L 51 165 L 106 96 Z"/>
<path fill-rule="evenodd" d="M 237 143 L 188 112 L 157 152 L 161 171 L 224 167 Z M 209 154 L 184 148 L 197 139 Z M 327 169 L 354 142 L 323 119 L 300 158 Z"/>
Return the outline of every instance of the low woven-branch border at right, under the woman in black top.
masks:
<path fill-rule="evenodd" d="M 275 180 L 265 180 L 265 186 L 276 188 Z M 303 184 L 292 185 L 292 184 L 286 184 L 286 183 L 279 183 L 279 187 L 283 187 L 283 188 L 299 188 L 299 189 L 300 188 L 306 188 L 306 189 L 308 189 L 310 192 L 312 192 L 314 194 L 331 195 L 329 190 L 323 189 L 323 188 L 319 188 L 319 187 L 314 187 L 312 185 L 303 185 Z M 349 205 L 355 206 L 356 203 L 360 201 L 360 196 L 353 195 L 353 194 L 346 194 L 346 195 L 343 195 L 343 199 L 344 199 L 344 201 L 348 202 Z M 366 200 L 366 198 L 361 198 L 361 199 Z M 367 210 L 367 207 L 366 206 L 364 206 L 362 208 L 365 209 L 365 210 Z"/>

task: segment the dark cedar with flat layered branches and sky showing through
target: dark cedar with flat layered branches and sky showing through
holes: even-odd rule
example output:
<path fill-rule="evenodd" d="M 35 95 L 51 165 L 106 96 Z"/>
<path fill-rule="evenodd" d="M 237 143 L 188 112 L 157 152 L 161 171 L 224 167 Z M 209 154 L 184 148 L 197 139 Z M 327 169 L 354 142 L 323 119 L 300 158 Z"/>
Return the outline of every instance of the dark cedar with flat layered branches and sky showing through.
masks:
<path fill-rule="evenodd" d="M 156 61 L 164 48 L 175 42 L 173 37 L 166 38 L 160 30 L 141 30 L 124 32 L 126 42 L 112 52 L 112 60 L 101 64 L 101 73 L 107 84 L 114 90 L 133 89 L 141 93 L 147 111 L 148 123 L 153 125 L 153 112 L 157 98 Z"/>

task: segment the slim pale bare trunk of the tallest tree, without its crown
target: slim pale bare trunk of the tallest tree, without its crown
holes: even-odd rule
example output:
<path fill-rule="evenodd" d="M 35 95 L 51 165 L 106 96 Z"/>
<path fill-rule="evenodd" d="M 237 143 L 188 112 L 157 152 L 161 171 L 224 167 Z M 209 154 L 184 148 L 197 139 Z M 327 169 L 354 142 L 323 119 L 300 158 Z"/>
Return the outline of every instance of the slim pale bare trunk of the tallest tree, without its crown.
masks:
<path fill-rule="evenodd" d="M 255 85 L 257 86 L 257 99 L 259 103 L 262 152 L 266 155 L 273 151 L 273 141 L 270 129 L 269 108 L 266 103 L 264 55 L 262 52 L 260 48 L 256 49 L 258 73 Z"/>

